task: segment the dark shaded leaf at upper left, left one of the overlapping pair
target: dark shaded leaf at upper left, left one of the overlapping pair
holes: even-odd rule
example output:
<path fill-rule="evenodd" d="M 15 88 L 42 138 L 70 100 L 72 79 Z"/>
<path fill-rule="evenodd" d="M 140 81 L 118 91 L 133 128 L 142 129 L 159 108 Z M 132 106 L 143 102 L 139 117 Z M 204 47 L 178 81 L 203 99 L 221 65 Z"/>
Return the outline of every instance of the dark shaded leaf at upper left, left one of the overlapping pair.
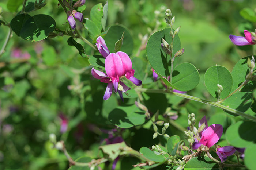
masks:
<path fill-rule="evenodd" d="M 15 16 L 10 23 L 10 27 L 12 28 L 12 31 L 15 32 L 18 36 L 20 36 L 20 30 L 25 24 L 25 22 L 30 18 L 31 16 L 28 14 L 20 14 Z"/>

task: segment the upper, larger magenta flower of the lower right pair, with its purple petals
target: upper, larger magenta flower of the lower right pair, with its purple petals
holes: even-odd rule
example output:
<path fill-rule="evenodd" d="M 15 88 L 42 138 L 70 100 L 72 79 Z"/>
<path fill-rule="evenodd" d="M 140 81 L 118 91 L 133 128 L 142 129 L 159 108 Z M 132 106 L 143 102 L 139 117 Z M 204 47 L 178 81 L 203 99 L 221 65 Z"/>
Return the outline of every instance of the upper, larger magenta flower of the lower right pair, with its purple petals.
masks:
<path fill-rule="evenodd" d="M 206 127 L 203 129 L 202 133 L 199 134 L 200 140 L 195 138 L 195 142 L 192 145 L 192 149 L 197 149 L 201 145 L 212 147 L 215 143 L 219 141 L 223 133 L 223 127 L 220 124 L 212 124 L 208 127 L 206 117 L 204 116 L 200 122 L 199 127 L 205 123 Z"/>

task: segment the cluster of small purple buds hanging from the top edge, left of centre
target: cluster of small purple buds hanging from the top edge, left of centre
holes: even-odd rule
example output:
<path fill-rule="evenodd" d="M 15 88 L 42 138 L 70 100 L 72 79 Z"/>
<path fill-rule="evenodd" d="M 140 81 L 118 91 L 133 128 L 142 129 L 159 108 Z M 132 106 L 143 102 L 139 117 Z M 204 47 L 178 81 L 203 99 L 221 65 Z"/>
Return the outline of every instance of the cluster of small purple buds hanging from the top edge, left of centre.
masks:
<path fill-rule="evenodd" d="M 80 22 L 83 21 L 83 13 L 76 12 L 76 10 L 74 10 L 74 8 L 83 6 L 85 3 L 85 0 L 79 0 L 72 6 L 66 0 L 63 0 L 63 3 L 70 10 L 67 12 L 67 18 L 68 18 L 68 22 L 69 22 L 71 28 L 74 30 L 76 28 L 76 21 L 75 21 L 74 17 L 76 19 L 78 19 Z"/>

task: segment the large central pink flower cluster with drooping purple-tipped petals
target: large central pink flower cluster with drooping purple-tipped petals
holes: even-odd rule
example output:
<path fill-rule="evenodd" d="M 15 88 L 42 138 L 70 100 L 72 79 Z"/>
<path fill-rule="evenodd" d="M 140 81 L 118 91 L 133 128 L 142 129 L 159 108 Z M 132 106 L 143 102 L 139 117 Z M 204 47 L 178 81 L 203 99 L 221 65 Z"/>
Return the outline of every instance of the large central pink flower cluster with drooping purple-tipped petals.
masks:
<path fill-rule="evenodd" d="M 105 70 L 107 74 L 94 68 L 91 69 L 91 74 L 94 78 L 101 79 L 101 82 L 108 83 L 103 97 L 104 100 L 109 99 L 114 87 L 114 93 L 118 92 L 123 101 L 123 93 L 126 93 L 127 90 L 130 90 L 131 88 L 125 85 L 121 79 L 126 77 L 136 86 L 140 86 L 142 81 L 133 77 L 134 69 L 132 69 L 132 61 L 126 53 L 122 51 L 118 51 L 117 53 L 109 53 L 108 47 L 101 36 L 99 36 L 96 41 L 96 46 L 99 52 L 104 58 L 106 58 Z"/>

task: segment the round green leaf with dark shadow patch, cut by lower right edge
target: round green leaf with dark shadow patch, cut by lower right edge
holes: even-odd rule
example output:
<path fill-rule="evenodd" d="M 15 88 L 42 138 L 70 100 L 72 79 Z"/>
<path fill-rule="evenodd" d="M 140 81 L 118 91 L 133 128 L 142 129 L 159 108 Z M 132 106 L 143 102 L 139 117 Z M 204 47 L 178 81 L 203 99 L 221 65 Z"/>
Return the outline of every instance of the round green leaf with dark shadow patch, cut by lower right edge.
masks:
<path fill-rule="evenodd" d="M 256 123 L 252 121 L 238 121 L 226 131 L 227 142 L 239 148 L 244 148 L 256 140 Z"/>

